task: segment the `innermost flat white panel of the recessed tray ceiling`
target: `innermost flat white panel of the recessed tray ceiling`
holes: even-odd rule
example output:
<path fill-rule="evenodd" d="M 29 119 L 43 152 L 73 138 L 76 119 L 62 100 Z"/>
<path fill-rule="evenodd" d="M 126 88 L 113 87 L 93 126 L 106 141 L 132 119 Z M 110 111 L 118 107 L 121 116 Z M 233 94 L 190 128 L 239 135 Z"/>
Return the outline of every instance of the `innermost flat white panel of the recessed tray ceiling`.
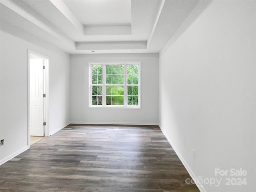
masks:
<path fill-rule="evenodd" d="M 130 0 L 63 0 L 84 26 L 131 25 Z"/>

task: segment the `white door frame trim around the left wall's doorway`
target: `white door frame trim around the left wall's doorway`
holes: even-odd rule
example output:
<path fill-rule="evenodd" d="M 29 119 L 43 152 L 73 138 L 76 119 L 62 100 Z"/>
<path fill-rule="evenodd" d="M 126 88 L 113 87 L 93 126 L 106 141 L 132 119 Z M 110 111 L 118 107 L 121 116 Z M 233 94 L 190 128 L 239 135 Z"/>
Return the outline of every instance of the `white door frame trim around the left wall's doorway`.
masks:
<path fill-rule="evenodd" d="M 45 122 L 44 126 L 44 136 L 50 136 L 49 130 L 49 60 L 50 57 L 44 54 L 40 54 L 38 52 L 32 51 L 28 49 L 28 148 L 30 148 L 30 54 L 39 56 L 46 60 L 44 63 L 45 71 L 43 73 L 43 82 L 45 86 L 46 97 L 44 98 L 44 113 L 45 113 Z M 43 62 L 45 61 L 43 60 Z"/>

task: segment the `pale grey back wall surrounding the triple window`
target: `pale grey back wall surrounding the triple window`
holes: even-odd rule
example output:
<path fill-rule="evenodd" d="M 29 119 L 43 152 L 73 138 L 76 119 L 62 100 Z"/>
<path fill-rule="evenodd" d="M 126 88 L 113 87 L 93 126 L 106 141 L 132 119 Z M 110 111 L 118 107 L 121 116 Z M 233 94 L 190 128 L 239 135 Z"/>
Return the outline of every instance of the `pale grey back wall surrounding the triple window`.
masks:
<path fill-rule="evenodd" d="M 141 61 L 141 109 L 89 108 L 90 61 Z M 158 124 L 158 54 L 74 54 L 70 56 L 70 80 L 72 122 Z"/>

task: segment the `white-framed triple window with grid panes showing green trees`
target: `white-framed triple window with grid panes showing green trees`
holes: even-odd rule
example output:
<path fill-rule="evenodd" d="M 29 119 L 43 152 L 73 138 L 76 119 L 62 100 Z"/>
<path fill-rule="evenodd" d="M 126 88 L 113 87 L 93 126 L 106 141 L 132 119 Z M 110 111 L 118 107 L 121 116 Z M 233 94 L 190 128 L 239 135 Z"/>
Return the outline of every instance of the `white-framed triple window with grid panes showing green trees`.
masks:
<path fill-rule="evenodd" d="M 140 62 L 90 63 L 90 107 L 140 107 Z"/>

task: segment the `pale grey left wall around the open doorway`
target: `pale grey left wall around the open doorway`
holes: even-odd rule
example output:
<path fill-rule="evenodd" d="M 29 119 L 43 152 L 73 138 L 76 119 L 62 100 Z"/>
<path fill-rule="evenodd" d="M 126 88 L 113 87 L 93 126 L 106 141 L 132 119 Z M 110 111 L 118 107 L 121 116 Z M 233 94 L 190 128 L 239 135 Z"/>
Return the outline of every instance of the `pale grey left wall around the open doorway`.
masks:
<path fill-rule="evenodd" d="M 1 30 L 1 164 L 28 148 L 28 49 L 50 57 L 50 134 L 70 121 L 69 54 L 32 42 Z"/>

